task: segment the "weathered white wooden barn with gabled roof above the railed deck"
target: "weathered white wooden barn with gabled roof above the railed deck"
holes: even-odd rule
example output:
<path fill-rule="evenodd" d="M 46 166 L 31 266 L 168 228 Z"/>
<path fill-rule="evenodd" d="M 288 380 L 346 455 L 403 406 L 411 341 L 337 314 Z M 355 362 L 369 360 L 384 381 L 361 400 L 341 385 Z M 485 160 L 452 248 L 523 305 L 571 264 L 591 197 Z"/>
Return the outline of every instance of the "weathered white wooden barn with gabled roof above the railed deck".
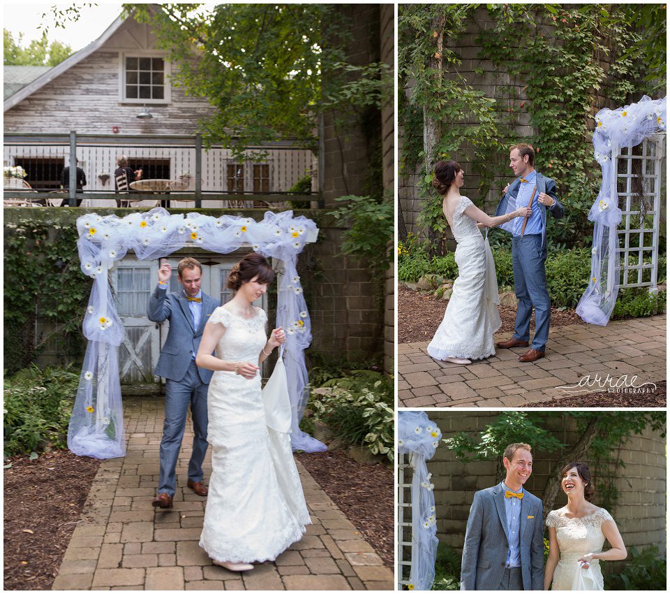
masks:
<path fill-rule="evenodd" d="M 87 177 L 82 205 L 115 205 L 109 194 L 121 154 L 131 168 L 142 168 L 145 180 L 172 180 L 168 189 L 193 191 L 195 131 L 214 107 L 173 85 L 170 69 L 149 24 L 132 17 L 118 17 L 96 41 L 53 68 L 5 66 L 3 164 L 22 166 L 32 189 L 58 190 L 75 131 L 77 159 Z M 246 154 L 256 157 L 235 160 L 221 147 L 202 151 L 203 207 L 229 205 L 207 200 L 208 193 L 210 198 L 246 192 L 278 199 L 277 193 L 307 174 L 312 188 L 318 187 L 311 150 L 285 141 L 248 147 Z M 249 198 L 246 205 L 252 206 Z M 193 206 L 193 201 L 172 205 Z"/>

